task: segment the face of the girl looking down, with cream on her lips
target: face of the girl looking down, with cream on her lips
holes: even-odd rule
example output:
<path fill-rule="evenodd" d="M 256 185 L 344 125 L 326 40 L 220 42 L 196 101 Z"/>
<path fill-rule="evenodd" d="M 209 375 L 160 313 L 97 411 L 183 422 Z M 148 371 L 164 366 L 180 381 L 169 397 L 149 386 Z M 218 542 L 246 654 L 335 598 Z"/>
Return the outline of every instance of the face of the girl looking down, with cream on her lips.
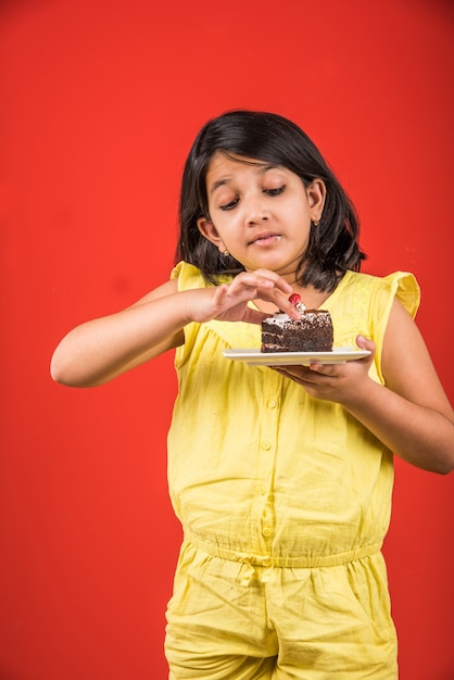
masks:
<path fill-rule="evenodd" d="M 319 219 L 325 184 L 305 187 L 281 165 L 216 152 L 206 174 L 210 219 L 199 229 L 247 270 L 265 268 L 294 282 L 306 248 L 311 221 Z"/>

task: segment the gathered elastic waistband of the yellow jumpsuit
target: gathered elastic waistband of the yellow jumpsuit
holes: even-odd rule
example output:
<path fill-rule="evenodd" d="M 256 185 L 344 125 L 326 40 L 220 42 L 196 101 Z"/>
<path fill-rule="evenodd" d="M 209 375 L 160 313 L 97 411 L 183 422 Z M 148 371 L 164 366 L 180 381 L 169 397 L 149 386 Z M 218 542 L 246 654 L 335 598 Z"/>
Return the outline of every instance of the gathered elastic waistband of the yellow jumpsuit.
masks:
<path fill-rule="evenodd" d="M 241 552 L 224 547 L 218 543 L 211 543 L 193 536 L 185 533 L 185 540 L 189 541 L 196 547 L 204 551 L 213 557 L 220 557 L 230 562 L 239 562 L 253 567 L 287 567 L 293 569 L 315 569 L 317 567 L 338 567 L 355 559 L 369 557 L 381 550 L 381 543 L 374 545 L 362 545 L 336 555 L 306 555 L 300 557 L 282 557 L 276 555 L 257 555 L 249 552 Z"/>

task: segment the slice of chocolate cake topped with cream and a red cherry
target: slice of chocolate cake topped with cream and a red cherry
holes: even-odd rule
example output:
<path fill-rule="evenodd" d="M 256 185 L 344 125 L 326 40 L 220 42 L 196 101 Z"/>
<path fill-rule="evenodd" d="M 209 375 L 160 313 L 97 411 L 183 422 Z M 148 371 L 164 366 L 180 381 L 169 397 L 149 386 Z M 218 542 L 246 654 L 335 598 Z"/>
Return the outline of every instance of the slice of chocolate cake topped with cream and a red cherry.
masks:
<path fill-rule="evenodd" d="M 262 352 L 331 352 L 332 319 L 327 310 L 306 310 L 298 293 L 289 298 L 299 320 L 274 314 L 262 322 Z"/>

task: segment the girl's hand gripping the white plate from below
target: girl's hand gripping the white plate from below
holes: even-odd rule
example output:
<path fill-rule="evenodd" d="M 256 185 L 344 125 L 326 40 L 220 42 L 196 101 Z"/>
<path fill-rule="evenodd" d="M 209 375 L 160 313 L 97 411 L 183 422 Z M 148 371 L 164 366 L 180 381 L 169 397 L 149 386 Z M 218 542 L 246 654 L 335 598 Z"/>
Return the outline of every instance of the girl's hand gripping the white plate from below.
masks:
<path fill-rule="evenodd" d="M 361 350 L 369 350 L 370 354 L 342 364 L 314 362 L 310 366 L 275 366 L 274 369 L 301 385 L 311 396 L 349 403 L 360 386 L 370 380 L 368 372 L 376 352 L 375 342 L 363 336 L 357 336 L 356 344 Z"/>

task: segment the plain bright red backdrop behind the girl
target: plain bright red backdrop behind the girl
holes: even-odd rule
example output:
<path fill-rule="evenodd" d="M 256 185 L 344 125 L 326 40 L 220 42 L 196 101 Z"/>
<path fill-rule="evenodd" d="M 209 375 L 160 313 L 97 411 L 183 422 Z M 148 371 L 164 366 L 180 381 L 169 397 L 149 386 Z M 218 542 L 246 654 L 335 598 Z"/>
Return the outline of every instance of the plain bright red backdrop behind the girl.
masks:
<path fill-rule="evenodd" d="M 166 677 L 172 356 L 92 390 L 49 361 L 167 278 L 206 118 L 270 110 L 313 137 L 357 204 L 365 270 L 416 274 L 453 399 L 453 17 L 441 0 L 2 2 L 1 680 Z M 453 492 L 398 462 L 401 680 L 454 678 Z"/>

